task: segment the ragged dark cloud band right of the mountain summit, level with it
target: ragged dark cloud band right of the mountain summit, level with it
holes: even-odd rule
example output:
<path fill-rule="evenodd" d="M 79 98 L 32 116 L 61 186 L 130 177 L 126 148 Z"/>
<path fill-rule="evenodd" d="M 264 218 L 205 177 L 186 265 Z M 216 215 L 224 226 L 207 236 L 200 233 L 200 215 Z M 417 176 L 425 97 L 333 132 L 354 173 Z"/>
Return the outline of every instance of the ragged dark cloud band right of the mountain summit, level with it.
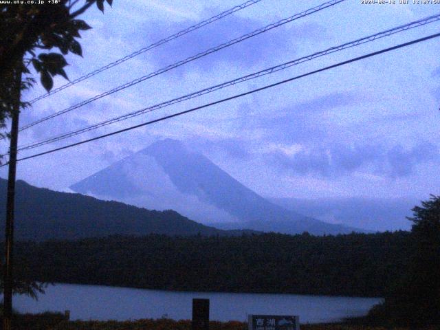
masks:
<path fill-rule="evenodd" d="M 338 144 L 327 148 L 305 148 L 294 155 L 282 151 L 267 153 L 272 165 L 300 175 L 320 175 L 332 178 L 349 175 L 357 170 L 382 177 L 407 177 L 423 162 L 439 161 L 439 147 L 421 142 L 412 148 L 400 144 L 393 147 L 381 144 L 346 146 Z"/>

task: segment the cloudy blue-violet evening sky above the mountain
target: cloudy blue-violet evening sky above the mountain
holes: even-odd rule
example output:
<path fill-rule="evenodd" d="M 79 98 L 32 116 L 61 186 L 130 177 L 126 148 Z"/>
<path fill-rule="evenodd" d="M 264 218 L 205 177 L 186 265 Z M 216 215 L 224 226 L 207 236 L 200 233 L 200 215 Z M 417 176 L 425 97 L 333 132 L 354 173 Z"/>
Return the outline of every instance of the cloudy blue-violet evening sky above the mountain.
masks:
<path fill-rule="evenodd" d="M 325 0 L 263 0 L 35 102 L 21 125 L 65 109 Z M 328 47 L 440 12 L 440 5 L 363 5 L 347 0 L 91 102 L 19 136 L 19 144 L 83 128 L 116 115 L 292 61 Z M 113 1 L 83 19 L 83 58 L 67 56 L 74 79 L 240 2 Z M 276 83 L 439 32 L 440 22 L 302 63 L 171 107 L 111 124 L 19 157 L 78 142 Z M 440 39 L 294 80 L 140 129 L 19 162 L 17 178 L 65 190 L 149 144 L 181 140 L 265 197 L 412 197 L 439 195 Z M 54 87 L 65 80 L 55 79 Z M 23 94 L 44 94 L 43 87 Z M 2 151 L 6 144 L 0 144 Z M 0 169 L 7 176 L 7 168 Z"/>

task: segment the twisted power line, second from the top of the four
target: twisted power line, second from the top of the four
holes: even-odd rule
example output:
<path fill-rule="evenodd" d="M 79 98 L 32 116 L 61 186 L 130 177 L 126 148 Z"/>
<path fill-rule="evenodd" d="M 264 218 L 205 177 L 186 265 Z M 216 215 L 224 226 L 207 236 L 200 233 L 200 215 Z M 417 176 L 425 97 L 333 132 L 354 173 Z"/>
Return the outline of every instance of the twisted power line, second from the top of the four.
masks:
<path fill-rule="evenodd" d="M 102 94 L 98 94 L 98 95 L 94 96 L 93 98 L 89 98 L 89 99 L 84 100 L 83 102 L 80 102 L 78 104 L 74 104 L 72 107 L 69 107 L 67 109 L 58 111 L 57 113 L 53 113 L 52 115 L 48 115 L 45 118 L 41 118 L 40 120 L 36 120 L 35 122 L 32 122 L 32 123 L 27 124 L 25 126 L 22 126 L 20 128 L 20 131 L 24 131 L 25 129 L 29 129 L 30 127 L 32 127 L 32 126 L 34 126 L 36 124 L 39 124 L 41 122 L 45 122 L 46 120 L 50 120 L 52 118 L 55 118 L 58 115 L 62 115 L 63 113 L 67 113 L 67 112 L 72 111 L 74 109 L 78 109 L 79 107 L 83 107 L 83 105 L 85 105 L 85 104 L 89 104 L 90 102 L 94 102 L 94 101 L 96 101 L 96 100 L 98 100 L 100 98 L 103 98 L 104 96 L 109 96 L 109 95 L 111 95 L 111 94 L 113 94 L 113 93 L 115 93 L 117 91 L 120 91 L 122 89 L 126 89 L 126 88 L 131 87 L 133 85 L 136 85 L 138 83 L 141 83 L 144 80 L 147 80 L 149 78 L 153 78 L 154 76 L 157 76 L 159 74 L 163 74 L 164 72 L 168 72 L 171 69 L 175 69 L 176 67 L 180 67 L 181 65 L 184 65 L 184 64 L 189 63 L 191 61 L 195 61 L 198 58 L 201 58 L 201 57 L 207 56 L 208 54 L 211 54 L 213 52 L 217 52 L 219 50 L 222 50 L 225 47 L 230 47 L 231 45 L 234 45 L 236 43 L 239 43 L 241 41 L 249 39 L 252 36 L 256 36 L 256 35 L 261 34 L 263 32 L 267 32 L 267 31 L 272 30 L 274 28 L 278 28 L 279 26 L 284 25 L 286 23 L 290 23 L 292 21 L 295 21 L 296 19 L 300 19 L 300 18 L 305 17 L 305 16 L 307 16 L 309 14 L 314 14 L 315 12 L 319 12 L 320 10 L 323 10 L 325 8 L 329 8 L 329 7 L 331 7 L 333 5 L 336 5 L 337 3 L 340 3 L 342 1 L 345 1 L 345 0 L 331 0 L 331 1 L 328 1 L 326 3 L 322 3 L 321 5 L 318 5 L 318 6 L 314 7 L 314 8 L 310 8 L 308 10 L 305 10 L 304 12 L 300 12 L 299 14 L 295 14 L 292 17 L 288 17 L 287 19 L 282 19 L 281 21 L 278 21 L 276 23 L 272 23 L 270 25 L 266 25 L 264 28 L 255 30 L 255 31 L 250 32 L 248 34 L 244 34 L 243 36 L 239 36 L 239 38 L 236 38 L 236 39 L 233 39 L 231 41 L 228 41 L 227 43 L 222 43 L 221 45 L 218 45 L 216 47 L 212 47 L 209 50 L 206 50 L 204 52 L 200 52 L 199 54 L 196 54 L 194 56 L 190 56 L 190 57 L 188 57 L 188 58 L 186 58 L 186 59 L 184 59 L 182 61 L 179 61 L 177 63 L 174 63 L 172 65 L 168 65 L 167 67 L 159 69 L 156 72 L 153 72 L 151 74 L 147 74 L 146 76 L 142 76 L 140 78 L 132 80 L 129 83 L 125 83 L 124 85 L 120 85 L 120 86 L 115 87 L 115 88 L 113 88 L 113 89 L 111 89 L 109 91 L 105 91 Z"/>

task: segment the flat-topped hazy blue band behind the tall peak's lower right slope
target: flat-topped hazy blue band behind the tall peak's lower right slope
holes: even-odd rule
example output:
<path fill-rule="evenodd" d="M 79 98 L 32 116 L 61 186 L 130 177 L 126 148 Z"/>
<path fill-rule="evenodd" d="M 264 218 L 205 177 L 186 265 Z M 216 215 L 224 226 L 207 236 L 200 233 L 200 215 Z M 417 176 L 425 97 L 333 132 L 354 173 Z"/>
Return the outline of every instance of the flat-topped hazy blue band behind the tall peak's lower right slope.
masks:
<path fill-rule="evenodd" d="M 366 230 L 410 230 L 411 209 L 420 201 L 410 197 L 396 198 L 274 198 L 283 208 L 296 210 L 311 217 L 331 223 L 342 223 Z"/>

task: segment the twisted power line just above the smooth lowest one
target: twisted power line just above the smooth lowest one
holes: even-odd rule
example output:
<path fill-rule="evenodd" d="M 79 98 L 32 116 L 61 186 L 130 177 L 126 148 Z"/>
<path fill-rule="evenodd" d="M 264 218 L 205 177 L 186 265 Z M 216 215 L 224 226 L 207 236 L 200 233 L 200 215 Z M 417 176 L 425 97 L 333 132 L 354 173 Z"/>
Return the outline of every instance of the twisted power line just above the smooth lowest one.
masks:
<path fill-rule="evenodd" d="M 25 144 L 23 146 L 20 146 L 19 147 L 19 151 L 29 150 L 29 149 L 36 148 L 38 146 L 43 146 L 45 144 L 49 144 L 49 143 L 52 143 L 52 142 L 58 142 L 60 140 L 65 140 L 68 137 L 79 135 L 79 134 L 85 133 L 87 131 L 92 131 L 92 130 L 98 129 L 98 128 L 102 127 L 102 126 L 107 126 L 107 125 L 113 124 L 115 122 L 120 122 L 122 120 L 127 120 L 127 119 L 133 118 L 133 117 L 135 117 L 137 115 L 142 115 L 144 113 L 148 113 L 148 112 L 151 112 L 151 111 L 155 111 L 157 109 L 162 109 L 164 107 L 168 107 L 168 106 L 170 106 L 172 104 L 183 102 L 184 100 L 190 100 L 191 98 L 196 98 L 198 96 L 202 96 L 204 94 L 211 93 L 212 91 L 217 91 L 219 89 L 222 89 L 222 88 L 225 88 L 225 87 L 228 87 L 228 86 L 236 85 L 238 83 L 243 83 L 243 82 L 245 82 L 247 80 L 251 80 L 251 79 L 254 79 L 254 78 L 265 76 L 267 74 L 272 74 L 273 72 L 278 72 L 280 70 L 287 69 L 288 67 L 292 67 L 293 65 L 298 65 L 298 64 L 304 63 L 306 61 L 311 61 L 312 59 L 318 58 L 320 56 L 325 56 L 327 54 L 332 54 L 333 52 L 339 52 L 341 50 L 344 50 L 344 49 L 347 49 L 347 48 L 350 48 L 350 47 L 355 47 L 357 45 L 362 45 L 364 43 L 369 43 L 371 41 L 375 41 L 377 39 L 384 38 L 385 36 L 390 36 L 391 34 L 395 34 L 395 33 L 398 33 L 398 32 L 410 30 L 412 28 L 417 28 L 419 26 L 426 25 L 428 23 L 432 23 L 432 22 L 439 21 L 439 20 L 440 20 L 440 14 L 437 14 L 437 15 L 432 15 L 430 17 L 426 17 L 426 18 L 423 18 L 423 19 L 419 19 L 418 21 L 412 21 L 411 23 L 408 23 L 408 24 L 405 24 L 405 25 L 399 25 L 396 28 L 392 28 L 392 29 L 389 29 L 389 30 L 378 32 L 376 34 L 371 34 L 370 36 L 366 36 L 364 38 L 357 39 L 355 41 L 350 41 L 348 43 L 344 43 L 344 44 L 338 45 L 336 47 L 330 47 L 327 50 L 323 50 L 321 52 L 316 52 L 316 53 L 308 55 L 308 56 L 303 56 L 303 57 L 298 58 L 298 59 L 296 59 L 294 61 L 289 61 L 289 62 L 283 63 L 281 65 L 276 65 L 274 67 L 270 67 L 268 69 L 264 69 L 264 70 L 261 70 L 259 72 L 255 72 L 253 74 L 248 74 L 247 76 L 242 76 L 242 77 L 236 78 L 234 80 L 229 80 L 229 81 L 227 81 L 225 83 L 221 83 L 219 85 L 214 85 L 214 86 L 208 87 L 206 89 L 201 89 L 199 91 L 195 91 L 195 92 L 193 92 L 191 94 L 187 94 L 187 95 L 181 96 L 179 98 L 173 98 L 172 100 L 168 100 L 166 102 L 155 104 L 155 105 L 153 105 L 151 107 L 146 107 L 144 109 L 140 109 L 140 110 L 137 110 L 137 111 L 134 111 L 134 112 L 131 112 L 131 113 L 126 113 L 124 115 L 120 115 L 118 117 L 111 118 L 109 120 L 104 120 L 102 122 L 99 122 L 98 124 L 94 124 L 94 125 L 91 125 L 91 126 L 83 127 L 83 129 L 78 129 L 76 131 L 71 131 L 69 133 L 63 133 L 62 135 L 57 135 L 55 137 L 50 137 L 50 138 L 45 139 L 45 140 L 40 140 L 40 141 L 37 141 L 37 142 L 31 142 L 29 144 Z"/>

